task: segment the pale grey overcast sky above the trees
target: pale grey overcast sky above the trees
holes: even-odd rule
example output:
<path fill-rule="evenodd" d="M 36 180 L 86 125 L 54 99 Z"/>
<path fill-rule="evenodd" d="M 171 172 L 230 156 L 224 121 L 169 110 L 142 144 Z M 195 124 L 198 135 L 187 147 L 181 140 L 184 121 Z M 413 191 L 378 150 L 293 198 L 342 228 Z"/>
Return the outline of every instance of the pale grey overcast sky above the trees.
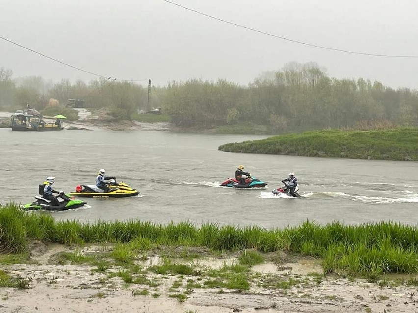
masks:
<path fill-rule="evenodd" d="M 418 55 L 417 0 L 172 0 L 247 27 L 331 48 Z M 312 48 L 225 24 L 163 0 L 0 0 L 0 36 L 60 61 L 154 85 L 190 78 L 248 84 L 288 62 L 317 62 L 337 78 L 418 88 L 418 57 L 385 58 Z M 89 81 L 0 39 L 14 77 Z M 146 84 L 146 81 L 142 82 Z"/>

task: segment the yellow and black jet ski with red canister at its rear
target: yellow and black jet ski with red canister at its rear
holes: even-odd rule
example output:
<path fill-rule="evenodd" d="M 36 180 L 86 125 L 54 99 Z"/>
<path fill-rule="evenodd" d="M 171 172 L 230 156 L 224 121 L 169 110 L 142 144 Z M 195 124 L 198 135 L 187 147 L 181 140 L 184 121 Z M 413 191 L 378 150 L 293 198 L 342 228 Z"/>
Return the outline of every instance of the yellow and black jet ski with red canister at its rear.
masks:
<path fill-rule="evenodd" d="M 108 192 L 98 188 L 96 185 L 78 185 L 76 191 L 71 192 L 71 195 L 87 198 L 126 198 L 139 194 L 139 191 L 131 188 L 124 182 L 116 182 L 115 179 L 110 180 L 107 184 Z"/>

